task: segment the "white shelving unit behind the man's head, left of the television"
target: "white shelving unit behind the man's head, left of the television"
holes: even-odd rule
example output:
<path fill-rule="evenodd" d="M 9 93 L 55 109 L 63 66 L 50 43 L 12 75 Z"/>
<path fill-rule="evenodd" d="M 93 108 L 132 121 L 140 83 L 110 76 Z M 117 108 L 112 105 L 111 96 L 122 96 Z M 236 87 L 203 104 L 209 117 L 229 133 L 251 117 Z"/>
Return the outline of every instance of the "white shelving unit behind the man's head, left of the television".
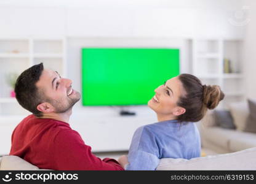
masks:
<path fill-rule="evenodd" d="M 34 64 L 44 63 L 45 68 L 66 76 L 65 37 L 0 37 L 0 120 L 22 118 L 30 112 L 24 110 L 15 98 L 10 97 L 13 88 L 8 85 L 10 74 L 20 75 Z"/>

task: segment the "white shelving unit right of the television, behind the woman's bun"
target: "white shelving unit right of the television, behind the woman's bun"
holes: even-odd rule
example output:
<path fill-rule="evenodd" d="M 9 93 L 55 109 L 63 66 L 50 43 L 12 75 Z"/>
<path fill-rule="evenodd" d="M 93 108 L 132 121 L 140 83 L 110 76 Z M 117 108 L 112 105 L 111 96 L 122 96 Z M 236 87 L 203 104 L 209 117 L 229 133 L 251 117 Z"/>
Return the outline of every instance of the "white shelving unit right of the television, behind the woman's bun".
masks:
<path fill-rule="evenodd" d="M 218 108 L 244 99 L 242 75 L 242 40 L 193 39 L 193 74 L 207 85 L 220 85 L 225 99 Z M 229 71 L 224 66 L 229 59 Z"/>

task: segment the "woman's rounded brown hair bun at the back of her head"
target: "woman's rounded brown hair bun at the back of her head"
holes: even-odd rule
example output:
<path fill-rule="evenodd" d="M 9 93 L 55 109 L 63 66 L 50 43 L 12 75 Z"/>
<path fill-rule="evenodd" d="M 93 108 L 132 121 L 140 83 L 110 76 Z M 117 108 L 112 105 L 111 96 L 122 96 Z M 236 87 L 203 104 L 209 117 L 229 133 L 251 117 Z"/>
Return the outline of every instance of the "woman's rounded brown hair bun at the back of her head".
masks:
<path fill-rule="evenodd" d="M 202 85 L 202 87 L 204 90 L 202 102 L 208 109 L 214 109 L 222 101 L 225 94 L 220 90 L 220 86 L 218 85 Z"/>

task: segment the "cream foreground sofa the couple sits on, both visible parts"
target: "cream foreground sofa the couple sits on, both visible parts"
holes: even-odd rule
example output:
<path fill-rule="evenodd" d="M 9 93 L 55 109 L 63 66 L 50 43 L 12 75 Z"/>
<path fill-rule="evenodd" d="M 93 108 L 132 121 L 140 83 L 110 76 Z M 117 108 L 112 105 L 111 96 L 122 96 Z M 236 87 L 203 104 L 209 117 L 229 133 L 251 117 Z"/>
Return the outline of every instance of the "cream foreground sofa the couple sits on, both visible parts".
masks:
<path fill-rule="evenodd" d="M 256 171 L 256 147 L 235 153 L 204 156 L 193 159 L 161 159 L 157 170 L 254 170 Z M 0 158 L 0 170 L 39 170 L 18 156 Z M 42 170 L 42 169 L 40 169 Z M 44 169 L 47 170 L 47 169 Z"/>

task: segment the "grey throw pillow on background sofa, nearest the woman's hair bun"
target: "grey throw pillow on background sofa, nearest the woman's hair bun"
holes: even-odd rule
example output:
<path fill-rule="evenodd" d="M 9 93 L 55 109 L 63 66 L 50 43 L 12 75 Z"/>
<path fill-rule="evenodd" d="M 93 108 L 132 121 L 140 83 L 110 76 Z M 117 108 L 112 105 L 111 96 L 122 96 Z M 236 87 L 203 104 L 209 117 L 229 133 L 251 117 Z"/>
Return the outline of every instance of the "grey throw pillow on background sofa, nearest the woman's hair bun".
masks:
<path fill-rule="evenodd" d="M 218 126 L 227 129 L 235 129 L 233 118 L 228 110 L 214 110 L 215 121 Z"/>

